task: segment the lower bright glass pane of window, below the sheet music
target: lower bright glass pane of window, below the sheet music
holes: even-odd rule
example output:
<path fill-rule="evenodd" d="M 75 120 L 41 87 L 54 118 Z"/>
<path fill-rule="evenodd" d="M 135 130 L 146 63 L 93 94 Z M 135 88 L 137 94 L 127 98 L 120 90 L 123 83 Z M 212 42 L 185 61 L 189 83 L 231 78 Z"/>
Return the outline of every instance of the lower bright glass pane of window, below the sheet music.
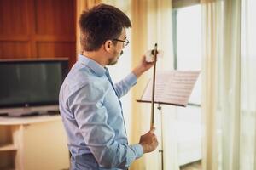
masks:
<path fill-rule="evenodd" d="M 177 108 L 179 165 L 201 160 L 201 108 Z"/>

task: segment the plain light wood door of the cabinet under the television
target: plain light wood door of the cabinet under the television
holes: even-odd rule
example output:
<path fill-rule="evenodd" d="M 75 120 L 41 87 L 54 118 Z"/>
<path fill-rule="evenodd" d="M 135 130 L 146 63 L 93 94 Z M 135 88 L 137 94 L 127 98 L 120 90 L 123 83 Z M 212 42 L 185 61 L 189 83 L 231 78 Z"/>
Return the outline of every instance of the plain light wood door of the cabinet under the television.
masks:
<path fill-rule="evenodd" d="M 24 125 L 23 129 L 26 170 L 68 169 L 67 137 L 61 120 Z"/>

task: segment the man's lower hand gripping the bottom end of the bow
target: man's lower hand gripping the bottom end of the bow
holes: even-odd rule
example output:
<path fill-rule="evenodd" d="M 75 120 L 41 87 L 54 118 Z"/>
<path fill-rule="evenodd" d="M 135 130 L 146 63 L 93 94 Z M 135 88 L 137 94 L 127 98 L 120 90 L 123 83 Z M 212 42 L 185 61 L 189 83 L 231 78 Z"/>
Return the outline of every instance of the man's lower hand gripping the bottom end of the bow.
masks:
<path fill-rule="evenodd" d="M 144 153 L 152 152 L 156 149 L 158 141 L 154 134 L 154 127 L 148 133 L 141 136 L 139 144 L 143 146 Z"/>

